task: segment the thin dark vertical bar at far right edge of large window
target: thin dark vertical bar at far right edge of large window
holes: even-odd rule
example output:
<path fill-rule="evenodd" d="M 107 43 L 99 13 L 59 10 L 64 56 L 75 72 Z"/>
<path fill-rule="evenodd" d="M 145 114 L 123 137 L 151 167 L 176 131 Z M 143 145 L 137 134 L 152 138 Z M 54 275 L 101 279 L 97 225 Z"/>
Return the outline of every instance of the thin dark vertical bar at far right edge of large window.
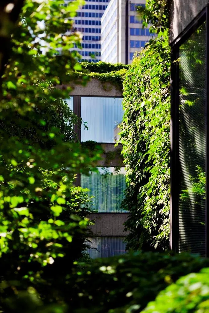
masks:
<path fill-rule="evenodd" d="M 209 7 L 206 7 L 206 257 L 209 257 Z"/>

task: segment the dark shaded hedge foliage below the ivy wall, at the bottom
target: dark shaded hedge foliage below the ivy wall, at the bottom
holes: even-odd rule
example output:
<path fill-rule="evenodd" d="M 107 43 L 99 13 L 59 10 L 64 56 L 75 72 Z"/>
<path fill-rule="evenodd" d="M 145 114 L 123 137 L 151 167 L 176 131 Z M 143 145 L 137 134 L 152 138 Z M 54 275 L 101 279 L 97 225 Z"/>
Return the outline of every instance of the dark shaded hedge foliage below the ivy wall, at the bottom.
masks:
<path fill-rule="evenodd" d="M 195 255 L 156 252 L 97 259 L 71 277 L 74 288 L 69 307 L 76 313 L 140 312 L 160 290 L 208 264 L 208 259 Z"/>

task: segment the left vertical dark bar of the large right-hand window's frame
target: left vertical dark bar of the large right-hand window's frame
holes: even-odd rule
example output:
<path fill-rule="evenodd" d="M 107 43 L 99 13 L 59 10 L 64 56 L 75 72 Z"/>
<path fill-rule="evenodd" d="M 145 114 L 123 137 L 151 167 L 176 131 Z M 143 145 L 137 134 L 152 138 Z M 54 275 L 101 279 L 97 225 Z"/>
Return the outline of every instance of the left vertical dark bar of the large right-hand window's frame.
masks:
<path fill-rule="evenodd" d="M 171 120 L 170 120 L 170 249 L 178 252 L 179 207 L 179 47 L 171 49 Z"/>

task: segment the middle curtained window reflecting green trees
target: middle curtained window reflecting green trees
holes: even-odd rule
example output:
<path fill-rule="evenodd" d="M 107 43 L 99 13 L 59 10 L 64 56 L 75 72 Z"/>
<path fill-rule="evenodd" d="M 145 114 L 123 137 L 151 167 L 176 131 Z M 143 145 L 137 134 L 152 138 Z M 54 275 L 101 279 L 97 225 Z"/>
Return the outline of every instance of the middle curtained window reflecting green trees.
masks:
<path fill-rule="evenodd" d="M 90 176 L 81 174 L 81 187 L 88 188 L 94 196 L 93 204 L 98 212 L 125 212 L 120 209 L 124 198 L 125 168 L 115 171 L 114 167 L 98 167 Z"/>

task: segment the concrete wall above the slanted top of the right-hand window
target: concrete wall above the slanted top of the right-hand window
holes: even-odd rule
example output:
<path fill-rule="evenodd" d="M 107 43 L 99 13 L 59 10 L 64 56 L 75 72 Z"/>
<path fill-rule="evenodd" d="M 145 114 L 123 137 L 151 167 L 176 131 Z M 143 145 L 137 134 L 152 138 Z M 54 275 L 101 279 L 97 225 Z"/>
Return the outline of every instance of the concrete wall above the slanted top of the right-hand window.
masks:
<path fill-rule="evenodd" d="M 207 5 L 208 0 L 171 0 L 170 1 L 170 34 L 172 43 L 186 26 Z"/>

